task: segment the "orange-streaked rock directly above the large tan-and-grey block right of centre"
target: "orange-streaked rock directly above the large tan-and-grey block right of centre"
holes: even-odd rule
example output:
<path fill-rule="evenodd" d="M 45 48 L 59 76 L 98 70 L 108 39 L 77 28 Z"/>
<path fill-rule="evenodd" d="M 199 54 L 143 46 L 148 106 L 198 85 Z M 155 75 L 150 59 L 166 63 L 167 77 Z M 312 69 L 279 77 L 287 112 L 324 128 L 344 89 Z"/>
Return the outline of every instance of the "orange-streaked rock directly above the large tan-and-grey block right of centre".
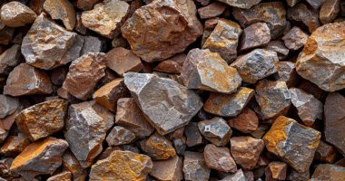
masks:
<path fill-rule="evenodd" d="M 237 56 L 237 45 L 241 33 L 242 29 L 239 24 L 220 19 L 217 21 L 217 24 L 215 24 L 212 33 L 208 35 L 205 43 L 203 43 L 202 49 L 209 49 L 211 52 L 219 52 L 222 59 L 226 62 L 232 62 Z"/>

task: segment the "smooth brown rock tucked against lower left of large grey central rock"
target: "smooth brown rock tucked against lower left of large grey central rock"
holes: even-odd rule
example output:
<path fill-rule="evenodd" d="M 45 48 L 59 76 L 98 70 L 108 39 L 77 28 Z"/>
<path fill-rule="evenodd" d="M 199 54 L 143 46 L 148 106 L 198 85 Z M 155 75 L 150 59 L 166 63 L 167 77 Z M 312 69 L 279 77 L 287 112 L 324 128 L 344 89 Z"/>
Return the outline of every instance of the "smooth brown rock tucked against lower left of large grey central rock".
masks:
<path fill-rule="evenodd" d="M 117 101 L 115 123 L 131 130 L 138 138 L 148 137 L 154 130 L 133 98 L 121 98 Z"/>

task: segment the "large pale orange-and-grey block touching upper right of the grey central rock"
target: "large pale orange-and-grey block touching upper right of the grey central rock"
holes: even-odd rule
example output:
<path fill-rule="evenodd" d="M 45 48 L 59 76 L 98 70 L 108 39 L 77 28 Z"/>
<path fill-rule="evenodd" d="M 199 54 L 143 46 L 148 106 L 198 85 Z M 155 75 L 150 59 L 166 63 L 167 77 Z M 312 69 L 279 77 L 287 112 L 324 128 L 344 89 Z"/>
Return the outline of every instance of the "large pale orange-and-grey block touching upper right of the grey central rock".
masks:
<path fill-rule="evenodd" d="M 182 80 L 189 89 L 232 93 L 240 86 L 240 74 L 217 52 L 192 49 L 183 63 Z"/>

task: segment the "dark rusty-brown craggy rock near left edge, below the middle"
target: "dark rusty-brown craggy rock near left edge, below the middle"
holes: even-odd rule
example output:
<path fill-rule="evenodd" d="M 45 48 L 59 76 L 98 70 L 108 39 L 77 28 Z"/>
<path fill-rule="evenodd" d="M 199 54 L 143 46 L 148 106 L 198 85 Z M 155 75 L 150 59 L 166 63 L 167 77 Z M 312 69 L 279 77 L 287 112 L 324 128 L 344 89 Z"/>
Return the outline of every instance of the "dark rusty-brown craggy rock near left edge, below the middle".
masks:
<path fill-rule="evenodd" d="M 66 100 L 48 100 L 22 110 L 15 117 L 18 129 L 31 141 L 48 137 L 64 128 Z"/>

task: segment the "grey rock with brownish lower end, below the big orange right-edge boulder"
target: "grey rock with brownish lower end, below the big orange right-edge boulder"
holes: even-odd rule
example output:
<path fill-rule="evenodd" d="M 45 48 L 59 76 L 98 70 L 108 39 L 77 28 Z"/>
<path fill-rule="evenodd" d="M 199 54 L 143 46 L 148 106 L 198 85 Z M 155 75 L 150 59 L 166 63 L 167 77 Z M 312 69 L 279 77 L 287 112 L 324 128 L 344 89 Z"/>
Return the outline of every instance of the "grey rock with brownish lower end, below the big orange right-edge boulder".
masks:
<path fill-rule="evenodd" d="M 303 124 L 311 127 L 316 119 L 322 119 L 323 105 L 320 100 L 298 88 L 291 88 L 291 103 Z"/>

